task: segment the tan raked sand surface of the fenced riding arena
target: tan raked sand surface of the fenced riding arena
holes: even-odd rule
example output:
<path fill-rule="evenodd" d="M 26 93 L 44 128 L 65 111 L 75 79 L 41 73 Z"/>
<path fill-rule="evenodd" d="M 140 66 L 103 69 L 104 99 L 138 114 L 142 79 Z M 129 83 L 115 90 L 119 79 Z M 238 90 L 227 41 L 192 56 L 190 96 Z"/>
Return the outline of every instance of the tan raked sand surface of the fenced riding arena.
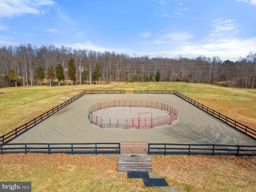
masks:
<path fill-rule="evenodd" d="M 88 110 L 112 100 L 162 102 L 178 110 L 178 119 L 147 129 L 100 128 L 91 124 Z M 166 112 L 145 107 L 112 107 L 96 111 L 106 118 L 138 118 L 139 113 L 163 116 Z M 227 126 L 173 94 L 86 94 L 11 143 L 150 142 L 177 144 L 256 145 L 256 140 Z"/>

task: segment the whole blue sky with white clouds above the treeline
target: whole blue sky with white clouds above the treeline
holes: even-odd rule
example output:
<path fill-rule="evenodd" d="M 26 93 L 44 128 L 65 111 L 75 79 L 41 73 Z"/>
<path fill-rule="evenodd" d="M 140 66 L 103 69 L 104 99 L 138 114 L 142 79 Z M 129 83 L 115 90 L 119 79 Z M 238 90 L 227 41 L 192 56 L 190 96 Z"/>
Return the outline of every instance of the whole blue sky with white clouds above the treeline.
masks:
<path fill-rule="evenodd" d="M 236 61 L 256 52 L 256 0 L 0 0 L 0 46 Z"/>

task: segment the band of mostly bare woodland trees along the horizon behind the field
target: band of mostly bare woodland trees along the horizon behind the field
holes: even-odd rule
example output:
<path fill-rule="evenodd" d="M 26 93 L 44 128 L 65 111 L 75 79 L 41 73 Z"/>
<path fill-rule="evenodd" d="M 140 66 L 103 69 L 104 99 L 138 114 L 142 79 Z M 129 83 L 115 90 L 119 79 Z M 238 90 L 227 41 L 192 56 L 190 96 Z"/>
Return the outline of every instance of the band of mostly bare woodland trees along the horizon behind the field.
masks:
<path fill-rule="evenodd" d="M 53 72 L 54 70 L 54 72 Z M 256 53 L 236 62 L 199 55 L 197 58 L 149 58 L 116 52 L 76 50 L 54 45 L 2 46 L 0 87 L 37 84 L 115 82 L 190 82 L 229 87 L 256 87 Z"/>

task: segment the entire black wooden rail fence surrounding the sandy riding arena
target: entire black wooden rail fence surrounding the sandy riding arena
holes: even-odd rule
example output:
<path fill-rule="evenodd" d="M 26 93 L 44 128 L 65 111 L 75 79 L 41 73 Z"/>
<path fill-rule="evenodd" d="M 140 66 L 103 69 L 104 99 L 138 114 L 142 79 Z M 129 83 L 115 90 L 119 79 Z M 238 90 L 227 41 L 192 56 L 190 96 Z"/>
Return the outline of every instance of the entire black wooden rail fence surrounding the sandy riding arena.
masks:
<path fill-rule="evenodd" d="M 44 114 L 34 118 L 30 122 L 4 134 L 0 137 L 0 152 L 6 153 L 68 153 L 68 154 L 120 154 L 120 143 L 23 143 L 10 144 L 11 140 L 20 134 L 34 127 L 46 118 L 52 116 L 74 100 L 80 98 L 84 94 L 106 94 L 106 93 L 125 93 L 124 90 L 85 90 L 80 94 L 70 98 L 66 102 L 54 107 Z M 212 110 L 179 92 L 174 90 L 134 90 L 134 93 L 151 93 L 151 94 L 175 94 L 185 101 L 200 108 L 204 112 L 214 116 L 236 130 L 256 139 L 256 131 L 245 126 L 227 116 Z M 239 146 L 239 145 L 217 145 L 217 144 L 148 144 L 148 154 L 180 154 L 180 155 L 236 155 L 236 156 L 256 156 L 256 146 Z"/>

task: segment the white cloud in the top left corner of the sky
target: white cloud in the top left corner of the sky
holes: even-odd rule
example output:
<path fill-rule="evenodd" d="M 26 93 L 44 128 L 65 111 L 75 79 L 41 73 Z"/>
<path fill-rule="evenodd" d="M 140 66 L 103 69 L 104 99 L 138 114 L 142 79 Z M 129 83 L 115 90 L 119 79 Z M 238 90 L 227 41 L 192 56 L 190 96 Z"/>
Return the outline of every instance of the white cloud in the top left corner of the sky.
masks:
<path fill-rule="evenodd" d="M 1 0 L 0 17 L 42 14 L 44 6 L 53 6 L 52 0 Z"/>

